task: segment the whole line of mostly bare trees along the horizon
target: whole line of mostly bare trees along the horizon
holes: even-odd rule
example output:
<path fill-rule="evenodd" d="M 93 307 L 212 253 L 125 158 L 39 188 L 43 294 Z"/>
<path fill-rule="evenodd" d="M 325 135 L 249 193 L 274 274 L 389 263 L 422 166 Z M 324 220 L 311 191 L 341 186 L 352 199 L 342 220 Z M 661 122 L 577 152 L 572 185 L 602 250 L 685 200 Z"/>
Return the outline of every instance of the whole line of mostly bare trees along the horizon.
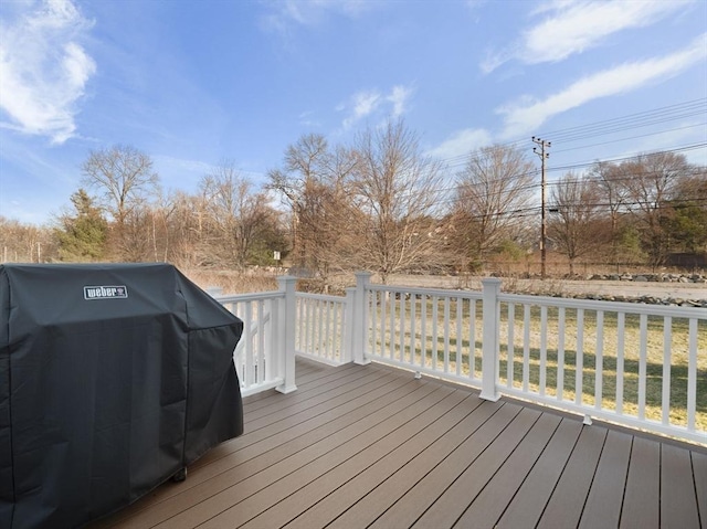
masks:
<path fill-rule="evenodd" d="M 3 261 L 286 264 L 327 285 L 351 269 L 383 282 L 483 273 L 494 260 L 528 258 L 539 242 L 539 171 L 525 150 L 488 146 L 450 174 L 402 120 L 350 145 L 303 135 L 260 187 L 223 161 L 196 193 L 166 193 L 151 158 L 124 145 L 91 151 L 81 171 L 53 225 L 0 216 Z M 707 169 L 680 154 L 599 161 L 547 189 L 547 245 L 570 274 L 587 258 L 655 268 L 672 253 L 707 251 Z"/>

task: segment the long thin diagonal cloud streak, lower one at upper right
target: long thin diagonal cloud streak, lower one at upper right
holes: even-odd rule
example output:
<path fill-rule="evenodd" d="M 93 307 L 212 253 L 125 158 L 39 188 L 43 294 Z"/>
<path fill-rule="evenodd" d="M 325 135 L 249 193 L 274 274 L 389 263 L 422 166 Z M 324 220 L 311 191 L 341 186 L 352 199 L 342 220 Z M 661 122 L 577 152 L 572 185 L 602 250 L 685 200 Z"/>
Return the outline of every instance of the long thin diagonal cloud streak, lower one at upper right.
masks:
<path fill-rule="evenodd" d="M 499 108 L 505 115 L 503 139 L 514 138 L 537 130 L 550 117 L 601 97 L 625 94 L 648 83 L 674 77 L 693 64 L 707 59 L 707 33 L 697 38 L 688 47 L 665 55 L 622 64 L 581 78 L 562 92 L 544 100 L 518 102 Z"/>

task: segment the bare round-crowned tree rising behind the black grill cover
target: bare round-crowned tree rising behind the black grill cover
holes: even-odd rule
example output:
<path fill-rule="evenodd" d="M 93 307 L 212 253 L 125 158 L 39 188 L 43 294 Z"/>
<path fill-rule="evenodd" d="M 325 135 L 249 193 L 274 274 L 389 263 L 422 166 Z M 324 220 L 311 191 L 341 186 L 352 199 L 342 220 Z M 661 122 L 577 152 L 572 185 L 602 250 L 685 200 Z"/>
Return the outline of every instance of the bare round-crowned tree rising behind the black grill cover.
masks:
<path fill-rule="evenodd" d="M 114 222 L 110 240 L 115 256 L 127 261 L 143 258 L 143 245 L 149 235 L 136 230 L 149 230 L 145 211 L 159 182 L 150 157 L 134 147 L 117 145 L 91 151 L 82 171 L 84 186 L 97 192 L 98 203 Z"/>

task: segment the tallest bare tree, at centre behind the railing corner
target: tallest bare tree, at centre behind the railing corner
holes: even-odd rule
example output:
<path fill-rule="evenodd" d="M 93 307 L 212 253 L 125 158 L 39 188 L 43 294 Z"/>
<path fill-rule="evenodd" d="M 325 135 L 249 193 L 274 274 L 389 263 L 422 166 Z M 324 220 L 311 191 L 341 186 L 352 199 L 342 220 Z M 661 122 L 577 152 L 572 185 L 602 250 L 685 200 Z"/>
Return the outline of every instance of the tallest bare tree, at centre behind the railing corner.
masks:
<path fill-rule="evenodd" d="M 350 224 L 361 234 L 360 266 L 386 283 L 391 274 L 428 267 L 440 241 L 431 219 L 439 218 L 442 171 L 422 156 L 416 136 L 402 120 L 362 133 L 356 142 L 356 198 L 361 214 Z"/>

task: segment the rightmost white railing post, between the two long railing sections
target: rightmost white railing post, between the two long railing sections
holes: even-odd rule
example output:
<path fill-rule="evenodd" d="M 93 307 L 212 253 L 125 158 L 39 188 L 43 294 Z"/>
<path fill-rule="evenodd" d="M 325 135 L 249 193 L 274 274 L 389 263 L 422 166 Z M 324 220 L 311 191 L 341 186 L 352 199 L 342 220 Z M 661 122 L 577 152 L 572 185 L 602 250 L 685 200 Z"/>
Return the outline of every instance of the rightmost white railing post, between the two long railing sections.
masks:
<path fill-rule="evenodd" d="M 500 279 L 495 277 L 482 279 L 484 329 L 482 335 L 482 392 L 481 398 L 496 402 L 499 394 L 496 391 L 498 379 L 498 293 Z"/>

